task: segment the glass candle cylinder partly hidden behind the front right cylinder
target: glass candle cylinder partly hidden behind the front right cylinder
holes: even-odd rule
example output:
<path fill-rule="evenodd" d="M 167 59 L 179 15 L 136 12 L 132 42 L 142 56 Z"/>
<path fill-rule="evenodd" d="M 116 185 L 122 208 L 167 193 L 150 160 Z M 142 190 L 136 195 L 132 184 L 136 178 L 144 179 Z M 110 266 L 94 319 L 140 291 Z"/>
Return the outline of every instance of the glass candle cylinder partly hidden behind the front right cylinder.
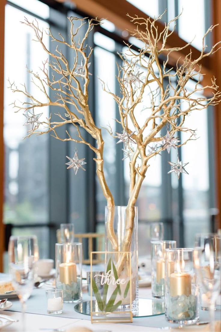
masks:
<path fill-rule="evenodd" d="M 165 289 L 165 249 L 176 248 L 176 241 L 151 241 L 151 290 L 154 297 L 163 298 Z M 168 262 L 174 271 L 174 262 Z"/>

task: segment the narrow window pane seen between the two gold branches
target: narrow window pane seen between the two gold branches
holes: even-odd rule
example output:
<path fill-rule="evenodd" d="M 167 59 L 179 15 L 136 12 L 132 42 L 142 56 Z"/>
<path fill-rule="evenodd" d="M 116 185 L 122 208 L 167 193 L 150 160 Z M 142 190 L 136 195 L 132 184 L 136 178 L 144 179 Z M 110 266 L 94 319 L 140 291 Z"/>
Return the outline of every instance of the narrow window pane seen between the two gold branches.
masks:
<path fill-rule="evenodd" d="M 99 37 L 99 36 L 98 36 Z M 97 38 L 97 43 L 99 43 Z M 106 37 L 102 37 L 102 41 L 105 41 Z M 107 38 L 107 42 L 109 38 Z M 112 41 L 113 44 L 114 41 Z M 105 45 L 105 44 L 104 44 Z M 115 91 L 115 55 L 100 48 L 95 47 L 95 68 L 96 76 L 101 78 L 107 83 L 108 88 L 111 91 Z M 105 68 L 105 70 L 104 70 Z M 101 82 L 96 78 L 96 122 L 98 126 L 108 127 L 111 126 L 113 133 L 116 131 L 115 127 L 115 101 L 113 97 L 103 91 Z M 105 142 L 104 147 L 104 173 L 111 193 L 115 196 L 116 192 L 116 140 L 108 133 L 105 128 L 102 128 L 102 135 Z M 97 221 L 104 221 L 104 207 L 107 205 L 105 198 L 103 197 L 102 190 L 99 182 L 97 181 Z"/>

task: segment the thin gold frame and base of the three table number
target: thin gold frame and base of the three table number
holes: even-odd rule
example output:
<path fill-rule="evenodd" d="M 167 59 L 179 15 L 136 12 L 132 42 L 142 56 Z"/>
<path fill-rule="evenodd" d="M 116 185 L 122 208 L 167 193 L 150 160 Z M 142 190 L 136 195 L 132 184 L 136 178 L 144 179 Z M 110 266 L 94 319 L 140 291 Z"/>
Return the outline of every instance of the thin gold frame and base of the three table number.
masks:
<path fill-rule="evenodd" d="M 107 254 L 127 254 L 129 256 L 129 270 L 130 270 L 130 311 L 112 311 L 112 312 L 107 312 L 107 311 L 92 311 L 92 278 L 90 278 L 90 320 L 91 323 L 131 323 L 133 322 L 133 314 L 132 314 L 132 274 L 131 274 L 131 252 L 129 251 L 91 251 L 90 253 L 90 275 L 92 275 L 92 262 L 93 262 L 93 254 L 103 254 L 105 256 L 105 261 L 106 261 L 106 256 Z M 105 262 L 104 262 L 105 264 Z M 104 316 L 104 318 L 99 318 L 99 319 L 94 319 L 93 315 L 98 315 L 99 316 Z M 123 314 L 127 314 L 128 318 L 123 316 L 122 318 L 113 318 L 110 319 L 108 318 L 108 314 L 118 314 L 123 316 Z"/>

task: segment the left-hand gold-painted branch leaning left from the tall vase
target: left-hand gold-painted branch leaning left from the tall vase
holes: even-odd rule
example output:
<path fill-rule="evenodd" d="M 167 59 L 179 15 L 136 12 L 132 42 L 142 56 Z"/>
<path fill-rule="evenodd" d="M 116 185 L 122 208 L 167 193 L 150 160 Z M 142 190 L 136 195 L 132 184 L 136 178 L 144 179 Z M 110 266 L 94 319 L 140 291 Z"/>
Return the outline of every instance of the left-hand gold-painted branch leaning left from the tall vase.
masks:
<path fill-rule="evenodd" d="M 28 132 L 27 137 L 32 134 L 42 135 L 50 132 L 52 136 L 55 138 L 67 141 L 71 140 L 78 143 L 84 143 L 89 146 L 89 148 L 96 154 L 96 158 L 94 158 L 96 162 L 96 174 L 99 179 L 100 186 L 102 188 L 105 199 L 107 200 L 107 206 L 114 206 L 114 199 L 110 192 L 110 189 L 107 185 L 104 169 L 103 169 L 103 149 L 104 149 L 104 141 L 101 134 L 101 129 L 97 127 L 94 123 L 93 117 L 89 110 L 88 106 L 88 83 L 89 83 L 89 72 L 88 72 L 88 63 L 90 59 L 90 55 L 92 53 L 92 48 L 85 44 L 88 34 L 92 31 L 94 25 L 100 24 L 98 20 L 87 20 L 87 19 L 77 19 L 74 17 L 68 18 L 71 23 L 70 29 L 70 43 L 64 40 L 64 38 L 60 35 L 61 39 L 56 39 L 50 29 L 48 35 L 50 36 L 52 41 L 70 47 L 74 53 L 74 61 L 72 65 L 69 64 L 67 58 L 59 50 L 58 46 L 56 47 L 55 52 L 50 51 L 45 43 L 43 42 L 43 31 L 39 28 L 37 21 L 29 22 L 27 19 L 24 24 L 33 29 L 35 34 L 35 40 L 38 41 L 45 52 L 50 57 L 50 61 L 46 61 L 43 63 L 42 73 L 43 78 L 41 78 L 38 74 L 33 73 L 28 70 L 28 72 L 32 75 L 34 80 L 32 82 L 40 89 L 40 91 L 46 97 L 47 102 L 41 102 L 32 96 L 26 89 L 26 86 L 23 86 L 23 89 L 19 89 L 14 83 L 11 84 L 10 87 L 13 92 L 19 92 L 23 94 L 28 102 L 22 103 L 22 105 L 17 105 L 17 103 L 13 103 L 14 107 L 17 109 L 17 112 L 20 110 L 28 111 L 30 109 L 41 108 L 44 106 L 57 106 L 63 109 L 63 115 L 60 113 L 57 114 L 58 121 L 51 121 L 51 115 L 47 119 L 47 122 L 43 122 L 42 124 L 46 127 L 44 131 L 38 130 L 30 130 Z M 80 26 L 75 30 L 74 23 L 80 22 Z M 76 42 L 78 38 L 78 32 L 83 27 L 83 25 L 87 24 L 86 32 L 81 40 Z M 51 71 L 51 75 L 48 73 L 47 66 Z M 79 69 L 81 66 L 81 70 Z M 82 82 L 83 80 L 83 88 Z M 49 87 L 55 93 L 56 101 L 53 101 L 48 93 L 46 87 Z M 69 105 L 74 106 L 76 112 L 71 111 Z M 78 138 L 71 137 L 70 133 L 66 131 L 67 138 L 62 138 L 57 133 L 57 128 L 66 125 L 73 124 L 77 128 Z M 86 132 L 88 132 L 95 140 L 96 146 L 93 146 L 89 142 L 87 142 L 80 130 L 79 127 L 82 127 Z M 117 250 L 117 238 L 113 229 L 113 217 L 110 215 L 108 221 L 108 237 L 111 240 L 113 248 Z"/>

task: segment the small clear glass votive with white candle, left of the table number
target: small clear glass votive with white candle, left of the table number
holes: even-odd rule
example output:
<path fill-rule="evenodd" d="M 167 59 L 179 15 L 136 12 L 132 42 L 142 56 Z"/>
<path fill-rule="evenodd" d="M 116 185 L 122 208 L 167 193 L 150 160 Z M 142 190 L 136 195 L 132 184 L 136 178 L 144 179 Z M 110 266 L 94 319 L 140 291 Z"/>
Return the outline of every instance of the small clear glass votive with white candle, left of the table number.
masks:
<path fill-rule="evenodd" d="M 63 290 L 46 290 L 47 313 L 58 314 L 63 310 Z"/>

